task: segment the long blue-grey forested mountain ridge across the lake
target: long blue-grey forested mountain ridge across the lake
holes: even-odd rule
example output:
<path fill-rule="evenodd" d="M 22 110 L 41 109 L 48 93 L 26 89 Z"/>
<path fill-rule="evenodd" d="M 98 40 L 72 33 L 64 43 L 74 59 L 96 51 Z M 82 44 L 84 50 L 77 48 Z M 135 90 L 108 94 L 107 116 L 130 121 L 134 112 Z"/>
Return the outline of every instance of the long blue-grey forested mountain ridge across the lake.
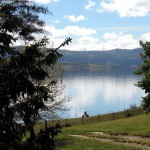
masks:
<path fill-rule="evenodd" d="M 69 51 L 59 50 L 65 66 L 92 67 L 137 67 L 142 63 L 142 49 L 116 49 L 110 51 Z"/>

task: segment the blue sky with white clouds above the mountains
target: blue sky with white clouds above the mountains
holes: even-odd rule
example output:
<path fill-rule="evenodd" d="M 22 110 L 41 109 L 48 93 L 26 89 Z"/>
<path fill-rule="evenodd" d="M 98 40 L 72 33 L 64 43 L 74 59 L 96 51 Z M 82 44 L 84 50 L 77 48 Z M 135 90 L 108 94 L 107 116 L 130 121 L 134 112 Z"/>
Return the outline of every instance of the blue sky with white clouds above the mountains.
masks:
<path fill-rule="evenodd" d="M 34 0 L 48 7 L 42 15 L 49 47 L 65 38 L 72 43 L 63 49 L 74 51 L 139 48 L 150 41 L 150 0 Z"/>

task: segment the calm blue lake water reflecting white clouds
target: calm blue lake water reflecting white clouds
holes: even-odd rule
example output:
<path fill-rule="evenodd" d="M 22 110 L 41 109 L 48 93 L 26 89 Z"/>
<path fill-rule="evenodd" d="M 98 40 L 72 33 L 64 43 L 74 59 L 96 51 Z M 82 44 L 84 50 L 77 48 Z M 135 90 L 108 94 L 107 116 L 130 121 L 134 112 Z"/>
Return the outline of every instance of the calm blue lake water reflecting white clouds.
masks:
<path fill-rule="evenodd" d="M 71 97 L 64 118 L 81 117 L 121 111 L 139 106 L 144 91 L 135 86 L 140 79 L 133 69 L 65 69 L 66 94 Z"/>

